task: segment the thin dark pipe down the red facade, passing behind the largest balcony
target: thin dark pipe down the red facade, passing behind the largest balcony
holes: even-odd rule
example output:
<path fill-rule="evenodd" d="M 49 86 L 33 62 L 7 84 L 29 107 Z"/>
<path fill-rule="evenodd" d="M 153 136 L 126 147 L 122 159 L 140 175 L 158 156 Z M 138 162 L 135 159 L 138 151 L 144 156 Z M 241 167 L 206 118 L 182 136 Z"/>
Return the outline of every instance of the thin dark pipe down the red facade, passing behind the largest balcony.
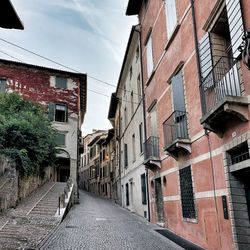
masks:
<path fill-rule="evenodd" d="M 204 107 L 204 96 L 202 93 L 201 89 L 201 84 L 202 84 L 202 76 L 201 76 L 201 62 L 200 62 L 200 57 L 199 57 L 199 47 L 198 47 L 198 37 L 197 37 L 197 23 L 196 23 L 196 18 L 195 18 L 195 7 L 194 7 L 194 0 L 190 0 L 191 7 L 192 7 L 192 19 L 193 19 L 193 28 L 194 28 L 194 41 L 195 41 L 195 54 L 196 54 L 196 63 L 197 63 L 197 70 L 198 70 L 198 77 L 199 77 L 199 89 L 200 89 L 200 101 L 202 104 L 202 113 L 204 114 L 205 107 Z M 215 210 L 216 210 L 216 218 L 217 218 L 217 223 L 218 223 L 218 238 L 220 242 L 220 247 L 222 247 L 221 243 L 221 232 L 220 232 L 220 223 L 219 223 L 219 212 L 218 212 L 218 205 L 216 201 L 216 192 L 215 192 L 215 175 L 214 175 L 214 164 L 213 164 L 213 158 L 212 158 L 212 149 L 211 149 L 211 142 L 210 142 L 210 137 L 209 137 L 209 132 L 208 130 L 205 129 L 205 135 L 207 136 L 208 140 L 208 147 L 209 147 L 209 155 L 210 155 L 210 162 L 211 162 L 211 167 L 212 167 L 212 177 L 213 177 L 213 189 L 214 189 L 214 203 L 215 203 Z"/>

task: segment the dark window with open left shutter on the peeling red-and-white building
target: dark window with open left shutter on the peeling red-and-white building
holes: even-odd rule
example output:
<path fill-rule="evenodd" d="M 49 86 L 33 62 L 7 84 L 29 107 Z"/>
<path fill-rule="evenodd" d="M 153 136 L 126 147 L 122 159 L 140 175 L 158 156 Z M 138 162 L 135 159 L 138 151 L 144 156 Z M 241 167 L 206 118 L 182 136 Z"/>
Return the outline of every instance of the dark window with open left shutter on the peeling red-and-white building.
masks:
<path fill-rule="evenodd" d="M 49 103 L 49 119 L 57 122 L 68 121 L 68 109 L 65 104 Z"/>

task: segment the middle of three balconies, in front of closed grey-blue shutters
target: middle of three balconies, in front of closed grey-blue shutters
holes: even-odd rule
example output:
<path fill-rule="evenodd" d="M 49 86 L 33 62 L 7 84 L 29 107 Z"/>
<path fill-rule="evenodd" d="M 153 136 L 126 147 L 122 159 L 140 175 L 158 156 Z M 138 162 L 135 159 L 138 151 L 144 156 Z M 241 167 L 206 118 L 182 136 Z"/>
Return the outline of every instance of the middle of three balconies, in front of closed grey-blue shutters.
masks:
<path fill-rule="evenodd" d="M 174 111 L 163 123 L 164 151 L 174 158 L 179 152 L 191 153 L 187 129 L 187 113 Z"/>

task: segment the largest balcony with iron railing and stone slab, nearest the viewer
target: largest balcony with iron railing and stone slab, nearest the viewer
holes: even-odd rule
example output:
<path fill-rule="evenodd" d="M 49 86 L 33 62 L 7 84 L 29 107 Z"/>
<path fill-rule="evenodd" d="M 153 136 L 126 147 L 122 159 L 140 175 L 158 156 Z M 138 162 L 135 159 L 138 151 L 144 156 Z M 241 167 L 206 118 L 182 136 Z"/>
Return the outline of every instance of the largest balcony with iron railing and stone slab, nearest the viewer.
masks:
<path fill-rule="evenodd" d="M 242 96 L 240 69 L 236 61 L 222 57 L 201 84 L 205 129 L 222 137 L 229 121 L 248 121 L 248 100 Z"/>

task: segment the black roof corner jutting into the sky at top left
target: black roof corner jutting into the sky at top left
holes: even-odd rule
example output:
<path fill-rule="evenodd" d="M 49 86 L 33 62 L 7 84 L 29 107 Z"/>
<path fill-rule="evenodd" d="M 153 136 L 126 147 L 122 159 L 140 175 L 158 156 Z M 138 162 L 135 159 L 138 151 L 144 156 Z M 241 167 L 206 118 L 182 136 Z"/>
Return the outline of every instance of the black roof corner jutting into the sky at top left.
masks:
<path fill-rule="evenodd" d="M 24 29 L 23 24 L 10 0 L 1 0 L 0 27 L 6 29 Z"/>

